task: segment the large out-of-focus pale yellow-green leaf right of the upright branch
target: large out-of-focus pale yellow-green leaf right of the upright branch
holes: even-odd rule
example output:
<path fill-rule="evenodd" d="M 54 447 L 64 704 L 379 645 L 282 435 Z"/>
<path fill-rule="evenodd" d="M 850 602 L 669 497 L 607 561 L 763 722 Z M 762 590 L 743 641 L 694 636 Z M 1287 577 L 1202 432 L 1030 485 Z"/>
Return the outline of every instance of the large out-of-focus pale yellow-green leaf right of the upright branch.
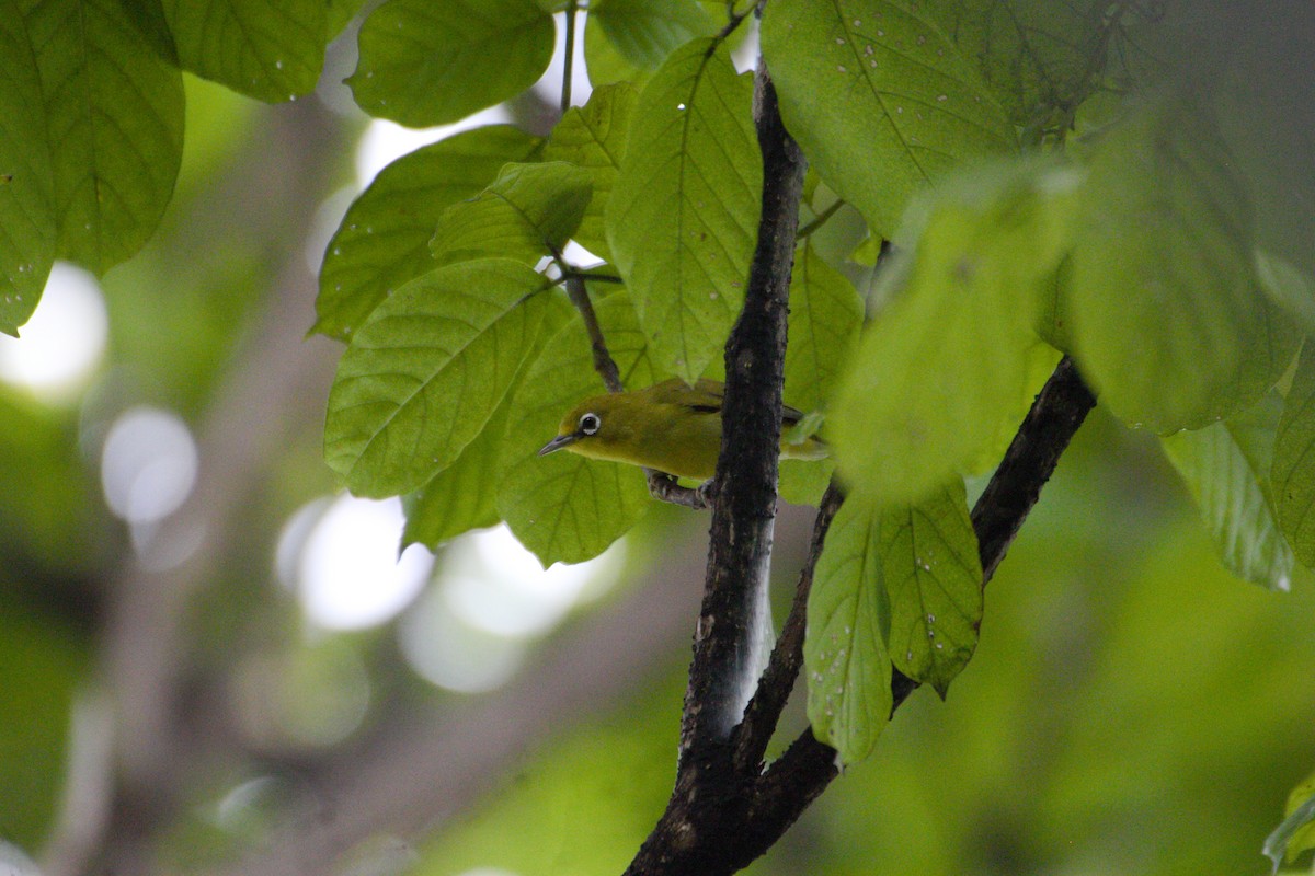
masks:
<path fill-rule="evenodd" d="M 934 192 L 882 274 L 828 437 L 856 490 L 917 503 L 973 470 L 1035 389 L 1032 324 L 1064 253 L 1072 173 L 997 165 Z"/>

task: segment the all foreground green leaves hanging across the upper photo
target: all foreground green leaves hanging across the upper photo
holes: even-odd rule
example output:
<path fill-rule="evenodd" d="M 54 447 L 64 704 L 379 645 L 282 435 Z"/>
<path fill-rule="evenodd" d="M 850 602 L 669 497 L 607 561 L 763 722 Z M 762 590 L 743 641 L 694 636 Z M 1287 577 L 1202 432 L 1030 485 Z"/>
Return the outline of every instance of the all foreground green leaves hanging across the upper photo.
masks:
<path fill-rule="evenodd" d="M 183 70 L 305 95 L 359 4 L 0 5 L 0 331 L 16 334 L 54 259 L 104 272 L 160 222 Z M 372 116 L 458 121 L 540 77 L 564 5 L 388 0 L 347 81 Z M 544 563 L 575 562 L 652 502 L 638 470 L 537 456 L 604 390 L 562 286 L 583 284 L 626 386 L 719 373 L 761 209 L 752 79 L 732 59 L 752 5 L 590 4 L 594 88 L 546 138 L 454 134 L 347 211 L 314 326 L 346 343 L 325 452 L 354 493 L 404 495 L 408 542 L 505 520 Z M 815 500 L 834 465 L 849 494 L 805 647 L 814 729 L 846 762 L 880 735 L 894 671 L 944 693 L 969 661 L 963 478 L 998 461 L 1060 355 L 1164 436 L 1232 571 L 1285 588 L 1315 565 L 1315 242 L 1293 209 L 1311 110 L 1282 100 L 1276 67 L 1302 30 L 1244 17 L 1226 54 L 1193 4 L 1148 5 L 764 7 L 763 60 L 813 168 L 785 399 L 825 415 L 834 448 L 784 468 L 782 489 Z M 843 215 L 867 240 L 838 251 Z"/>

